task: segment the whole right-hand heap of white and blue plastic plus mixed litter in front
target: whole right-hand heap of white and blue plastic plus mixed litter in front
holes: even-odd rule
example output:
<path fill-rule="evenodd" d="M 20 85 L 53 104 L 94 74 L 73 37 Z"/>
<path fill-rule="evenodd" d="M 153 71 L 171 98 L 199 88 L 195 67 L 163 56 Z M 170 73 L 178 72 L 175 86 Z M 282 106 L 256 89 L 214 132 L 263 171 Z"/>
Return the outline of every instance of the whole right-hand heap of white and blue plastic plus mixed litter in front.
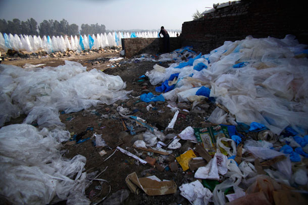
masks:
<path fill-rule="evenodd" d="M 248 36 L 226 41 L 206 55 L 189 47 L 164 54 L 162 59 L 175 63 L 168 68 L 156 64 L 145 74 L 162 95 L 148 93 L 140 99 L 194 105 L 212 101 L 218 106 L 206 120 L 213 125 L 187 127 L 167 145 L 166 137 L 154 130 L 134 146 L 157 150 L 178 149 L 180 140 L 198 143 L 176 158 L 183 171 L 195 171 L 196 180 L 179 187 L 192 204 L 225 204 L 226 199 L 228 204 L 304 202 L 300 193 L 308 193 L 306 48 L 291 35 Z M 187 60 L 180 60 L 183 56 Z M 179 113 L 177 107 L 170 108 L 175 115 L 167 128 Z"/>

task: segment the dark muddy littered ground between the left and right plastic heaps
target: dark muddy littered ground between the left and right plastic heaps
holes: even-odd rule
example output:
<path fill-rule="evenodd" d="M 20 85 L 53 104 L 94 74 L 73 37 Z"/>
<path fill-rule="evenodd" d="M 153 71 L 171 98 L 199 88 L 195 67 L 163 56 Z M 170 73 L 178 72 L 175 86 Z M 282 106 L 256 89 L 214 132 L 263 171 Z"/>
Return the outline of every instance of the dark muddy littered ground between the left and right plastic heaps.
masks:
<path fill-rule="evenodd" d="M 87 70 L 97 69 L 104 71 L 106 74 L 119 75 L 123 81 L 126 82 L 128 91 L 133 91 L 128 100 L 117 101 L 112 105 L 97 105 L 87 110 L 81 110 L 76 113 L 63 113 L 61 112 L 60 118 L 63 123 L 66 124 L 66 129 L 71 132 L 71 135 L 77 134 L 77 138 L 86 140 L 80 144 L 67 145 L 63 143 L 63 156 L 66 158 L 73 158 L 76 155 L 83 155 L 86 157 L 87 162 L 85 165 L 85 171 L 87 173 L 98 171 L 101 172 L 106 169 L 98 178 L 108 180 L 111 185 L 111 192 L 109 196 L 123 188 L 127 188 L 125 184 L 125 178 L 127 175 L 136 172 L 138 177 L 145 177 L 150 175 L 156 175 L 161 180 L 173 180 L 177 186 L 181 186 L 183 183 L 192 182 L 194 180 L 194 173 L 187 170 L 183 171 L 181 166 L 177 163 L 178 168 L 171 171 L 169 164 L 174 162 L 175 157 L 187 151 L 187 149 L 193 148 L 194 144 L 188 141 L 180 141 L 182 147 L 177 150 L 173 150 L 173 153 L 162 158 L 161 155 L 156 153 L 145 152 L 132 147 L 134 141 L 142 139 L 142 133 L 146 131 L 146 128 L 136 125 L 132 120 L 121 117 L 117 111 L 117 106 L 121 105 L 124 108 L 130 110 L 130 114 L 141 117 L 146 120 L 146 123 L 157 127 L 165 134 L 168 133 L 180 133 L 187 126 L 192 127 L 204 127 L 208 126 L 204 122 L 206 117 L 210 116 L 211 112 L 215 109 L 215 105 L 210 102 L 204 101 L 197 107 L 192 109 L 191 103 L 177 103 L 177 106 L 181 109 L 190 110 L 190 112 L 181 111 L 178 115 L 175 126 L 171 130 L 165 130 L 169 122 L 174 116 L 174 112 L 167 107 L 168 102 L 156 102 L 145 103 L 139 100 L 136 96 L 142 93 L 152 92 L 153 94 L 159 94 L 155 92 L 155 86 L 149 83 L 147 78 L 139 78 L 144 75 L 146 71 L 153 69 L 153 65 L 159 62 L 151 61 L 138 61 L 133 59 L 122 59 L 118 61 L 120 64 L 116 67 L 110 67 L 109 61 L 102 61 L 101 59 L 119 57 L 118 53 L 95 53 L 88 56 L 67 57 L 67 58 L 45 58 L 45 59 L 33 59 L 33 60 L 12 60 L 4 61 L 4 64 L 14 64 L 23 66 L 25 63 L 31 64 L 45 64 L 44 66 L 58 66 L 64 64 L 64 60 L 71 60 L 80 62 L 87 67 Z M 93 63 L 95 61 L 100 63 Z M 159 63 L 162 66 L 168 67 L 166 63 Z M 141 80 L 141 81 L 140 81 Z M 143 81 L 142 81 L 143 80 Z M 149 110 L 146 107 L 151 104 L 152 108 Z M 21 123 L 25 115 L 20 116 L 17 119 L 12 119 L 7 122 L 6 125 L 12 123 Z M 34 124 L 35 125 L 35 124 Z M 125 127 L 124 127 L 125 125 Z M 132 134 L 127 128 L 133 127 L 136 134 Z M 108 146 L 94 147 L 95 137 L 93 134 L 101 134 Z M 78 139 L 78 140 L 79 140 Z M 166 144 L 171 140 L 166 140 Z M 128 150 L 133 154 L 138 154 L 139 157 L 145 159 L 147 156 L 157 159 L 155 166 L 142 165 L 136 160 L 128 157 L 120 151 L 104 162 L 111 154 L 114 153 L 116 147 L 120 146 L 123 149 Z M 106 151 L 107 154 L 100 156 L 100 151 Z M 96 188 L 95 188 L 96 187 Z M 109 191 L 108 183 L 101 184 L 102 189 L 99 189 L 100 184 L 94 181 L 86 189 L 87 197 L 92 201 L 99 201 L 106 196 Z M 168 194 L 162 196 L 148 196 L 141 191 L 139 195 L 134 193 L 129 194 L 129 197 L 123 202 L 123 204 L 189 204 L 189 201 L 180 195 L 179 189 L 175 194 Z M 61 201 L 58 204 L 65 204 L 65 201 Z"/>

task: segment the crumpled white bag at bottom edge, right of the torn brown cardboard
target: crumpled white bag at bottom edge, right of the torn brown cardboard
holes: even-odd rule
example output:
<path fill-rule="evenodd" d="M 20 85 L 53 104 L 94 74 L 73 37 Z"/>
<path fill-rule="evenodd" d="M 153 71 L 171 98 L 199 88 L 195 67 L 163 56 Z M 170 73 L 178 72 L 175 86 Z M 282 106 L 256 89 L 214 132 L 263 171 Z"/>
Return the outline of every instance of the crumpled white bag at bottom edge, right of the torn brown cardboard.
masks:
<path fill-rule="evenodd" d="M 188 199 L 194 205 L 207 205 L 213 194 L 198 181 L 188 184 L 182 184 L 179 187 L 181 195 Z"/>

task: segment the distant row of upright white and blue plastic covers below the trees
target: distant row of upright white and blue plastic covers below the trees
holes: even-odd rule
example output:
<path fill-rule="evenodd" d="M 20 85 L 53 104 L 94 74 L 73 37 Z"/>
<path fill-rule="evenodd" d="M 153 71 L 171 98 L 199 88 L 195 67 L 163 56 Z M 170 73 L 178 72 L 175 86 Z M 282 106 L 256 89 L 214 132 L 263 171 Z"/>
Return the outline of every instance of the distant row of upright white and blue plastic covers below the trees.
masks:
<path fill-rule="evenodd" d="M 177 32 L 170 32 L 171 37 L 175 37 Z M 47 53 L 57 51 L 65 51 L 67 49 L 81 51 L 84 49 L 99 49 L 107 46 L 121 45 L 122 38 L 157 38 L 158 32 L 137 32 L 137 33 L 100 33 L 96 35 L 80 35 L 77 36 L 31 36 L 31 35 L 12 35 L 0 33 L 0 47 L 5 49 L 26 50 L 35 52 L 39 49 L 44 49 Z"/>

